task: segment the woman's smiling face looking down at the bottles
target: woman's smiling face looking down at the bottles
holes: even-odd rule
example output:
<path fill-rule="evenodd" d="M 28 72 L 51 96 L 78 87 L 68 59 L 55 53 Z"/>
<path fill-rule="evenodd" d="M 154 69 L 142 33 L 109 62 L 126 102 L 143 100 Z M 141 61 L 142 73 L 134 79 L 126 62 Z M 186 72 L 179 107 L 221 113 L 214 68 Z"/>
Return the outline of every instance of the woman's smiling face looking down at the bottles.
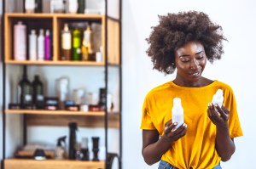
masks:
<path fill-rule="evenodd" d="M 198 85 L 207 64 L 205 49 L 200 42 L 188 42 L 175 51 L 176 81 L 183 86 Z"/>

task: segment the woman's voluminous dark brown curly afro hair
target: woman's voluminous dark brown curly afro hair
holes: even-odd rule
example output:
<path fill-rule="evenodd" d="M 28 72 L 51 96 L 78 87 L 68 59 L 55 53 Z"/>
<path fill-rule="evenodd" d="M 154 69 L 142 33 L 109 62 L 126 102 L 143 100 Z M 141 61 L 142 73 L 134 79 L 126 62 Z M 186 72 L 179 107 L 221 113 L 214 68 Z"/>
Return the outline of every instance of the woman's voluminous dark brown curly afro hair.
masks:
<path fill-rule="evenodd" d="M 212 23 L 207 14 L 196 11 L 159 16 L 160 23 L 152 27 L 148 41 L 148 56 L 154 68 L 165 74 L 176 69 L 174 52 L 190 41 L 201 42 L 211 63 L 224 54 L 222 27 Z"/>

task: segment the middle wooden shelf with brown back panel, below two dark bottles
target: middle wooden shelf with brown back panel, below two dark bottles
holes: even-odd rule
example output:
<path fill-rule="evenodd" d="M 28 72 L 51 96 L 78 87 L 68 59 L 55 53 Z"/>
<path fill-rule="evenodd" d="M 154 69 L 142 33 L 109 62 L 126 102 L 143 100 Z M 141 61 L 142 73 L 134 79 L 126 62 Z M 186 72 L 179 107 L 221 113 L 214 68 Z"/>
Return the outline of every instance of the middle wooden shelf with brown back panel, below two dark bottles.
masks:
<path fill-rule="evenodd" d="M 67 126 L 69 122 L 77 122 L 79 127 L 105 127 L 104 111 L 5 110 L 5 113 L 26 115 L 27 126 Z M 108 113 L 108 127 L 119 126 L 119 113 Z"/>

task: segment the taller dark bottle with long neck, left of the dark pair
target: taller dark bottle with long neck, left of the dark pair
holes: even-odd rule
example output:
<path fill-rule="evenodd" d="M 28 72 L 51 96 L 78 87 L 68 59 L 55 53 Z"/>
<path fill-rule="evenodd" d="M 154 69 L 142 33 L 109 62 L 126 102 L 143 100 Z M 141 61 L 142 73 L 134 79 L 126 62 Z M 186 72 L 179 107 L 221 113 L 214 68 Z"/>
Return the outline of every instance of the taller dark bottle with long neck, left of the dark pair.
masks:
<path fill-rule="evenodd" d="M 32 84 L 27 79 L 26 66 L 23 68 L 23 76 L 19 82 L 19 95 L 21 109 L 32 109 Z"/>

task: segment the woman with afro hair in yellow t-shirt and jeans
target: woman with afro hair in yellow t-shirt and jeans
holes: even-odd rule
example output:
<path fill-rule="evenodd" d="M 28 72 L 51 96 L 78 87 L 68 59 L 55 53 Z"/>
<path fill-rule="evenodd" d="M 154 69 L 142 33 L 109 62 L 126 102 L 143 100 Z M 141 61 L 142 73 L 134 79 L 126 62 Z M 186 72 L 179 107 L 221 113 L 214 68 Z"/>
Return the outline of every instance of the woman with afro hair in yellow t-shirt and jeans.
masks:
<path fill-rule="evenodd" d="M 177 75 L 172 82 L 154 87 L 143 104 L 143 158 L 159 169 L 219 169 L 229 161 L 242 136 L 232 88 L 201 76 L 207 60 L 220 59 L 222 28 L 207 14 L 189 11 L 160 16 L 148 40 L 148 56 L 154 69 Z M 212 104 L 218 89 L 224 92 L 221 107 Z M 182 100 L 184 123 L 172 123 L 172 99 Z"/>

